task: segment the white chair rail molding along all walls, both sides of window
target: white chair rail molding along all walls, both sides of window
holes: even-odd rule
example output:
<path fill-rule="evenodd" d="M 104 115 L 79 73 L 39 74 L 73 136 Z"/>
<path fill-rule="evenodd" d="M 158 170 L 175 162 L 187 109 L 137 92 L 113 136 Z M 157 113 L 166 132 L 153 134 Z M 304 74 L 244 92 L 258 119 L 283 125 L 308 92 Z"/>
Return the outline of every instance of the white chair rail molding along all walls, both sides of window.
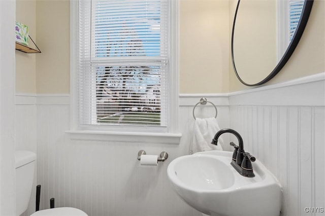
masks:
<path fill-rule="evenodd" d="M 283 83 L 231 93 L 179 94 L 179 106 L 192 106 L 206 97 L 217 106 L 325 104 L 325 72 Z M 265 97 L 268 95 L 268 97 Z M 70 94 L 16 93 L 16 104 L 70 105 Z M 207 104 L 209 106 L 209 104 Z"/>

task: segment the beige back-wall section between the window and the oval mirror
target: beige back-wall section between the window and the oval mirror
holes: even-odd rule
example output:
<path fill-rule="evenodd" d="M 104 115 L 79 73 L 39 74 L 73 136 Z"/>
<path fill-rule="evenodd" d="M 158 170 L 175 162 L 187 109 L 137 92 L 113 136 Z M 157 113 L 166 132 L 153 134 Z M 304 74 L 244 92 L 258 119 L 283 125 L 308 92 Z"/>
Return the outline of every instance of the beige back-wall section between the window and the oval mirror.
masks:
<path fill-rule="evenodd" d="M 180 0 L 180 93 L 229 91 L 228 1 Z"/>

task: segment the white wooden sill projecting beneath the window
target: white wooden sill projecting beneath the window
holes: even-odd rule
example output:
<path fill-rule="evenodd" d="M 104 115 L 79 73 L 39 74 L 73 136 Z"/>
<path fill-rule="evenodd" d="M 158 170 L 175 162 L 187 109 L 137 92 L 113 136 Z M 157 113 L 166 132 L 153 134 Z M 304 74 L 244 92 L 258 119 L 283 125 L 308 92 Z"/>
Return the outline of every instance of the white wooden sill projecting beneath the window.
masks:
<path fill-rule="evenodd" d="M 139 133 L 139 132 L 110 132 L 91 130 L 69 130 L 72 140 L 146 142 L 178 145 L 181 133 Z"/>

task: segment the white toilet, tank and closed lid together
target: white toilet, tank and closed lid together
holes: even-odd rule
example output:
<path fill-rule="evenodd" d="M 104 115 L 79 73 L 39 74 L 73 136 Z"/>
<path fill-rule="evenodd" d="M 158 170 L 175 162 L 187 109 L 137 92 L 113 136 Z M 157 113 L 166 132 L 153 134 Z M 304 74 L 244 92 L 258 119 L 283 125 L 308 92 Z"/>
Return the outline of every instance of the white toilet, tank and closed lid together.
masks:
<path fill-rule="evenodd" d="M 34 181 L 34 171 L 36 154 L 29 151 L 16 151 L 16 214 L 22 214 L 28 207 L 31 195 L 32 183 Z M 60 207 L 36 211 L 30 216 L 87 216 L 85 212 L 77 208 Z"/>

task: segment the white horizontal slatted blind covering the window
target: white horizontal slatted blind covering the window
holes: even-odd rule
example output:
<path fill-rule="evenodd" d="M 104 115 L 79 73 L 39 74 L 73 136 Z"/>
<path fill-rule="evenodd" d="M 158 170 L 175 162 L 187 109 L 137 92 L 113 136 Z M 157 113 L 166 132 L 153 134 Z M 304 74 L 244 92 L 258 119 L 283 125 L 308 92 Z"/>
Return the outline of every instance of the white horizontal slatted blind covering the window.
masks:
<path fill-rule="evenodd" d="M 167 0 L 79 2 L 79 119 L 167 126 Z"/>

